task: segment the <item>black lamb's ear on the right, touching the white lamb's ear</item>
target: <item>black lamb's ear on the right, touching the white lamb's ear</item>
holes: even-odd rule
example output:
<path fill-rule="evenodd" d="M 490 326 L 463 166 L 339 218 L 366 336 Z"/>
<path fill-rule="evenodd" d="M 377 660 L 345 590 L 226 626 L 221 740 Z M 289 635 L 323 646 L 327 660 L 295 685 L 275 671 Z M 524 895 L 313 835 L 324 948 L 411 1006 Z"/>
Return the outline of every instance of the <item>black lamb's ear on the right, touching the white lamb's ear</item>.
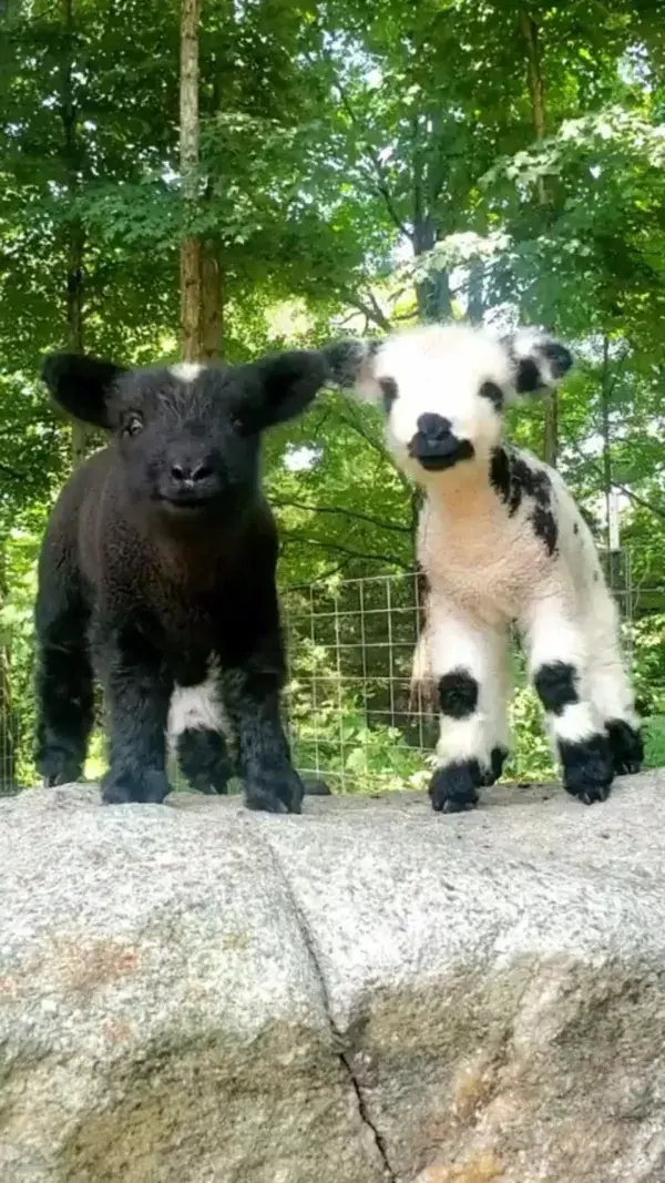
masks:
<path fill-rule="evenodd" d="M 299 415 L 328 381 L 321 353 L 293 349 L 241 368 L 246 393 L 241 418 L 247 429 L 263 431 Z"/>

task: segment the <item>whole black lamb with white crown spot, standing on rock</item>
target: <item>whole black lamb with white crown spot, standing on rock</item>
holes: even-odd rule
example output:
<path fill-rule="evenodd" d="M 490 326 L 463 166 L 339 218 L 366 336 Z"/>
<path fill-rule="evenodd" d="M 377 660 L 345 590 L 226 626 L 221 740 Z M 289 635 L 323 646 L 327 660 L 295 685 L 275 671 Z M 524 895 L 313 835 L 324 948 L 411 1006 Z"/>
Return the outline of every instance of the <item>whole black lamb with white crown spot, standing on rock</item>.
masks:
<path fill-rule="evenodd" d="M 67 480 L 39 558 L 38 767 L 76 781 L 108 713 L 103 800 L 161 802 L 167 735 L 186 776 L 251 809 L 298 813 L 280 722 L 285 678 L 260 433 L 325 383 L 316 353 L 238 366 L 123 369 L 69 354 L 41 376 L 71 415 L 111 432 Z M 234 736 L 230 748 L 228 726 Z"/>

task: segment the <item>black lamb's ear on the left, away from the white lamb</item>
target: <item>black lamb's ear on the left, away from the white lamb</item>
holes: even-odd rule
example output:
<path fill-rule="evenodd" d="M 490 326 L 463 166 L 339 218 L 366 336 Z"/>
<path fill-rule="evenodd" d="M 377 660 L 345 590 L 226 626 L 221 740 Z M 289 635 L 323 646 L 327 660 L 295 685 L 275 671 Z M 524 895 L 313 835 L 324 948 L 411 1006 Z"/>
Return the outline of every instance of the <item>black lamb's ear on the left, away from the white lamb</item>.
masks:
<path fill-rule="evenodd" d="M 114 426 L 111 394 L 125 371 L 112 362 L 78 354 L 49 354 L 40 377 L 52 397 L 69 415 L 110 429 Z"/>

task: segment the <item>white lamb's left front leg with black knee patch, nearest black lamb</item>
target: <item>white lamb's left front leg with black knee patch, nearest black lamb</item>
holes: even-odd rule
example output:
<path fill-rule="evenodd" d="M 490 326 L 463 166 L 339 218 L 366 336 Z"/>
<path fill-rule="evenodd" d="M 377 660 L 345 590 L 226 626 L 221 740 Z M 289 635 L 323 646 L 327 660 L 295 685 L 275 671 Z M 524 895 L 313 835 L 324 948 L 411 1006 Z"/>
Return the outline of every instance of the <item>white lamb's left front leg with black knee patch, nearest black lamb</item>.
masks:
<path fill-rule="evenodd" d="M 506 733 L 506 638 L 438 596 L 430 601 L 427 635 L 440 712 L 430 796 L 434 809 L 459 813 L 477 804 L 478 789 L 497 778 L 506 755 L 497 744 L 497 732 Z"/>

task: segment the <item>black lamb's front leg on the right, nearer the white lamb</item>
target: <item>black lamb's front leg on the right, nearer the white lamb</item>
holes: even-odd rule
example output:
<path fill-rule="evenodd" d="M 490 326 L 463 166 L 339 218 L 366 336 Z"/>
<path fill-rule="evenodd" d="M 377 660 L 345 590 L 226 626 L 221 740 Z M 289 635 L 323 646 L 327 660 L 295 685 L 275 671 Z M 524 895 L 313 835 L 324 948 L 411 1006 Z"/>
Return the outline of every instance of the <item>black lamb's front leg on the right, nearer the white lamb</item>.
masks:
<path fill-rule="evenodd" d="M 279 717 L 284 679 L 280 642 L 278 638 L 271 638 L 271 642 L 244 665 L 226 671 L 224 700 L 238 731 L 238 757 L 247 808 L 299 813 L 303 783 L 291 764 Z"/>

